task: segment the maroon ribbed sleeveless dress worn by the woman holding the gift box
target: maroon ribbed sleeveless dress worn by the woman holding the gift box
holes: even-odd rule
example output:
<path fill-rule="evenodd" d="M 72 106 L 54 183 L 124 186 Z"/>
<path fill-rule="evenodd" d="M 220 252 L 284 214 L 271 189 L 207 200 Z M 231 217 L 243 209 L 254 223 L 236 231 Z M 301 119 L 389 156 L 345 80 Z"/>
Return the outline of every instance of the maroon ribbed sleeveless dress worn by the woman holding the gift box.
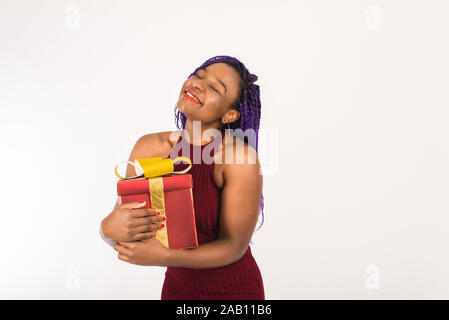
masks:
<path fill-rule="evenodd" d="M 221 137 L 223 134 L 224 130 L 221 132 Z M 188 173 L 192 175 L 193 179 L 192 193 L 199 245 L 218 239 L 221 190 L 215 184 L 214 162 L 205 163 L 204 156 L 201 157 L 201 160 L 197 160 L 201 163 L 194 161 L 194 149 L 201 153 L 211 143 L 216 146 L 221 143 L 221 139 L 218 137 L 199 146 L 187 142 L 183 136 L 180 136 L 170 155 L 167 156 L 171 159 L 186 156 L 192 160 L 192 168 Z M 187 150 L 190 148 L 189 155 L 186 155 L 185 152 L 182 154 L 182 149 L 176 151 L 175 147 L 181 148 L 182 144 Z M 210 156 L 213 157 L 215 147 L 210 149 L 211 147 L 209 146 L 207 150 L 211 150 Z M 182 170 L 187 166 L 185 163 L 176 163 L 175 170 Z M 265 293 L 259 267 L 254 260 L 250 246 L 248 246 L 240 260 L 226 266 L 208 269 L 167 267 L 161 299 L 264 300 Z"/>

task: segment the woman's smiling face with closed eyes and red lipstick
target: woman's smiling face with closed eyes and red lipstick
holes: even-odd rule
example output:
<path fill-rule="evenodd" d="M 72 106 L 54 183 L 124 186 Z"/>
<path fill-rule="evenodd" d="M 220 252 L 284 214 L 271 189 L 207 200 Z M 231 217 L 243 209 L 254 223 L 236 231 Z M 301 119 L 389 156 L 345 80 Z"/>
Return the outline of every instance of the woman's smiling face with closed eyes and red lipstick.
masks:
<path fill-rule="evenodd" d="M 214 63 L 199 69 L 183 84 L 178 109 L 189 120 L 200 120 L 205 126 L 221 127 L 221 118 L 234 122 L 240 116 L 231 104 L 240 93 L 240 74 L 226 63 Z M 189 98 L 187 92 L 199 100 Z"/>

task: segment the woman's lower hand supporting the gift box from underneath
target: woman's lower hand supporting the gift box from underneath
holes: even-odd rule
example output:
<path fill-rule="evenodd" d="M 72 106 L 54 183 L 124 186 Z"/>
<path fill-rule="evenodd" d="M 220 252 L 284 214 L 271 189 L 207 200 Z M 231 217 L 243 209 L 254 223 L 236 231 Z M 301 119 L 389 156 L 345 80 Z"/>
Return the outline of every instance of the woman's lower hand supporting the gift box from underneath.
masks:
<path fill-rule="evenodd" d="M 114 246 L 120 260 L 141 266 L 167 266 L 170 249 L 159 240 L 151 238 L 142 241 L 119 241 Z"/>

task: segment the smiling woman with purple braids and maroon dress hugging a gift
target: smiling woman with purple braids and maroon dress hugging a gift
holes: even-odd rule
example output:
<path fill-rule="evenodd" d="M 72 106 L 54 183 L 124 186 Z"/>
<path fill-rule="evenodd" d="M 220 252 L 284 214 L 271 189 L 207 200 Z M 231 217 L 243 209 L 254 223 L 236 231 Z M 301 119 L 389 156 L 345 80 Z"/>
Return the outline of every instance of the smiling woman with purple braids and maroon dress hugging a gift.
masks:
<path fill-rule="evenodd" d="M 263 217 L 257 157 L 261 104 L 256 80 L 236 58 L 208 59 L 182 86 L 175 107 L 176 125 L 182 130 L 145 135 L 131 152 L 132 162 L 149 157 L 174 159 L 185 156 L 174 152 L 179 149 L 175 146 L 184 144 L 193 159 L 194 150 L 204 152 L 212 143 L 218 146 L 212 149 L 211 163 L 204 162 L 203 156 L 200 163 L 192 161 L 188 172 L 194 186 L 197 248 L 170 249 L 159 243 L 153 233 L 170 222 L 157 215 L 157 208 L 143 208 L 145 204 L 116 204 L 101 223 L 102 237 L 114 246 L 119 259 L 167 267 L 161 299 L 265 299 L 262 276 L 249 246 L 259 211 Z M 194 135 L 198 123 L 201 133 L 216 129 L 220 134 L 212 140 L 202 134 L 198 138 Z M 226 127 L 251 131 L 255 139 L 245 136 L 243 143 L 237 143 L 238 138 L 225 133 Z M 126 176 L 134 175 L 134 167 L 128 166 Z"/>

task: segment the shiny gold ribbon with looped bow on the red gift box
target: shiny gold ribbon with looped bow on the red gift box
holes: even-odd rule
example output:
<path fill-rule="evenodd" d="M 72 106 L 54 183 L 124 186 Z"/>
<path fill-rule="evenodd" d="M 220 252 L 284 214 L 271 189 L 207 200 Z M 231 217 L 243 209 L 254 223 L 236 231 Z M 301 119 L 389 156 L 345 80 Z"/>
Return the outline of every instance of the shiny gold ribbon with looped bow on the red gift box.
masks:
<path fill-rule="evenodd" d="M 189 163 L 189 167 L 182 171 L 174 171 L 174 163 L 179 160 L 184 160 Z M 121 163 L 130 163 L 136 169 L 137 176 L 124 178 L 118 174 L 117 167 Z M 154 158 L 144 158 L 144 159 L 136 159 L 135 162 L 131 161 L 123 161 L 118 163 L 115 166 L 115 175 L 120 180 L 129 180 L 133 178 L 138 178 L 144 176 L 145 179 L 148 179 L 149 191 L 150 191 L 150 199 L 151 205 L 153 208 L 157 208 L 161 213 L 161 217 L 165 217 L 165 200 L 164 200 L 164 182 L 162 180 L 163 175 L 176 173 L 183 174 L 190 170 L 192 167 L 192 161 L 186 157 L 178 157 L 175 160 L 162 159 L 161 157 Z M 159 240 L 162 245 L 169 248 L 168 245 L 168 225 L 167 220 L 165 220 L 165 227 L 162 229 L 158 229 L 156 231 L 156 235 L 154 236 L 157 240 Z"/>

